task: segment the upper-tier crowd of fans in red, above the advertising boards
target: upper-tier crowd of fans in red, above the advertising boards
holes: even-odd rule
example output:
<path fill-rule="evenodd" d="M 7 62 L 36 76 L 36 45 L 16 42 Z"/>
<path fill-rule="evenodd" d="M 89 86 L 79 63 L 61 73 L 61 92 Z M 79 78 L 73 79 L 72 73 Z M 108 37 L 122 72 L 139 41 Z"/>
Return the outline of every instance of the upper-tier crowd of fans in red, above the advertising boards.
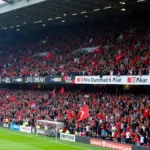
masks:
<path fill-rule="evenodd" d="M 48 35 L 42 42 L 0 45 L 1 76 L 150 75 L 150 28 L 81 28 Z M 76 52 L 99 46 L 100 51 Z M 51 52 L 44 60 L 39 53 Z M 36 56 L 35 56 L 36 54 Z"/>

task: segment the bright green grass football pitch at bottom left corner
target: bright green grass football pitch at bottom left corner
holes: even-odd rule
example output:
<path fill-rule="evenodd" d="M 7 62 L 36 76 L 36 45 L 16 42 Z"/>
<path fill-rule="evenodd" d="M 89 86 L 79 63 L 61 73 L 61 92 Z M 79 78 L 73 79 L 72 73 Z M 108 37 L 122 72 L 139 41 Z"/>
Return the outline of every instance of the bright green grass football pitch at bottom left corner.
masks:
<path fill-rule="evenodd" d="M 110 150 L 0 128 L 0 150 Z"/>

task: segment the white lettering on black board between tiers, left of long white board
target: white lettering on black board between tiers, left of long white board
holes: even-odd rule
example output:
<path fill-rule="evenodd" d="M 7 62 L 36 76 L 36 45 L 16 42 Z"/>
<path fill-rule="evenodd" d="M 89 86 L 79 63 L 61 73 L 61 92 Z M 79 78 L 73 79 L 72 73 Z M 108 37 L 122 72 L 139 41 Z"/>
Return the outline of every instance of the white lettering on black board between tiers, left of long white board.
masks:
<path fill-rule="evenodd" d="M 26 77 L 26 83 L 45 83 L 44 77 Z"/>

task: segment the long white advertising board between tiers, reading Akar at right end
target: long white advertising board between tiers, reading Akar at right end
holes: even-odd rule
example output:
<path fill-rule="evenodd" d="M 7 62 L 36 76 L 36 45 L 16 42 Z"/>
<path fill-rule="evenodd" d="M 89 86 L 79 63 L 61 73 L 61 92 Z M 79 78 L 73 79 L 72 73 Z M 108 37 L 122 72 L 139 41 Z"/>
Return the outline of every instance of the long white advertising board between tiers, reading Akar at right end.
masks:
<path fill-rule="evenodd" d="M 75 76 L 75 84 L 150 85 L 150 76 Z"/>

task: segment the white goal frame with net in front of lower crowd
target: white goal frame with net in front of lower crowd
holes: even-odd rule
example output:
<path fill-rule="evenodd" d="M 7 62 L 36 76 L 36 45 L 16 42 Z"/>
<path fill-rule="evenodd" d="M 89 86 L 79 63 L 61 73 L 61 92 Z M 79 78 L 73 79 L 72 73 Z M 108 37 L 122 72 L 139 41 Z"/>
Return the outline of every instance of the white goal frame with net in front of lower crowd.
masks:
<path fill-rule="evenodd" d="M 58 139 L 58 132 L 64 127 L 64 123 L 48 120 L 37 120 L 36 134 L 55 137 Z"/>

